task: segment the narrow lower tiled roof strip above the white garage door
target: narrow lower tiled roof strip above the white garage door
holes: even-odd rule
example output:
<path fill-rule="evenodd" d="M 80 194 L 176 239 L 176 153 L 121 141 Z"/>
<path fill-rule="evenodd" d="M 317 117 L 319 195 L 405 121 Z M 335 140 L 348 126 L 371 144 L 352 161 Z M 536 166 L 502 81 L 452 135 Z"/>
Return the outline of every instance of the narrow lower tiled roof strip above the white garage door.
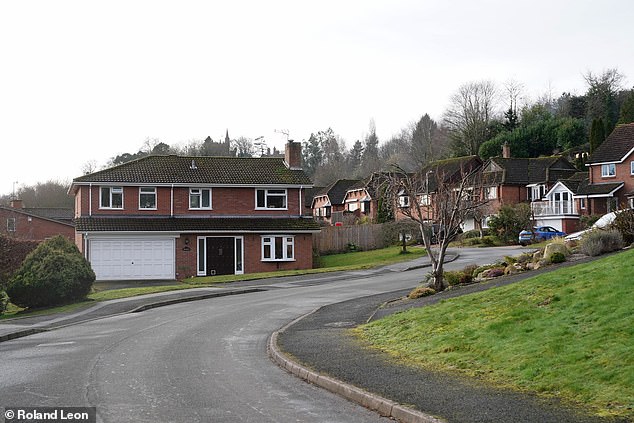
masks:
<path fill-rule="evenodd" d="M 78 232 L 318 232 L 310 218 L 80 217 Z"/>

